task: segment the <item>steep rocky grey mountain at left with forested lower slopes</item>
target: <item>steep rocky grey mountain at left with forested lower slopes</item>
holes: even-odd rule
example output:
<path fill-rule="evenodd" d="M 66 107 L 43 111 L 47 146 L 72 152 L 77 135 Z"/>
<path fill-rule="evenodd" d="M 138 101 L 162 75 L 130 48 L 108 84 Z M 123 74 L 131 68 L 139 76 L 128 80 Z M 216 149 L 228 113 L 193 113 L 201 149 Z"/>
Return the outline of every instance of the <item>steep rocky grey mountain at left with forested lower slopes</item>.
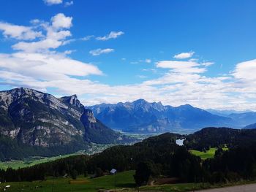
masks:
<path fill-rule="evenodd" d="M 126 141 L 127 137 L 94 118 L 75 95 L 57 99 L 29 88 L 0 92 L 0 158 L 12 153 L 72 153 L 89 142 Z"/>

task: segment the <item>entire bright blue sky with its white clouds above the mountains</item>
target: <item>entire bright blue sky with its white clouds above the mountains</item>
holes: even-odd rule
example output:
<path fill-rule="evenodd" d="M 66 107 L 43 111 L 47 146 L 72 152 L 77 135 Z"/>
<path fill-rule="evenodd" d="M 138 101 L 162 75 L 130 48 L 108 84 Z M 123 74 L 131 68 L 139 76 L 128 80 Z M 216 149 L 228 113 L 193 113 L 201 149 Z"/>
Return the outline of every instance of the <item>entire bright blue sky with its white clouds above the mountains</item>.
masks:
<path fill-rule="evenodd" d="M 0 88 L 256 110 L 255 1 L 2 1 Z M 176 55 L 176 56 L 175 56 Z"/>

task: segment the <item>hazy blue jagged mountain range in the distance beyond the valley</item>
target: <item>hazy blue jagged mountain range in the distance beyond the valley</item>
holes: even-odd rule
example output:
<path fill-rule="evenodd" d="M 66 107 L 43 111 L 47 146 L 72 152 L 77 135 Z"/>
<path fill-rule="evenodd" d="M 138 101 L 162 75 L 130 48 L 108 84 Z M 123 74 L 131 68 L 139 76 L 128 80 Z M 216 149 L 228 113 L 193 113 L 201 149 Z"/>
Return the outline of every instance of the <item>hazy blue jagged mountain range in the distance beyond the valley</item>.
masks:
<path fill-rule="evenodd" d="M 231 118 L 213 115 L 189 104 L 179 107 L 149 103 L 143 99 L 118 104 L 97 104 L 91 107 L 96 118 L 111 128 L 128 132 L 164 132 L 206 126 L 231 126 Z"/>

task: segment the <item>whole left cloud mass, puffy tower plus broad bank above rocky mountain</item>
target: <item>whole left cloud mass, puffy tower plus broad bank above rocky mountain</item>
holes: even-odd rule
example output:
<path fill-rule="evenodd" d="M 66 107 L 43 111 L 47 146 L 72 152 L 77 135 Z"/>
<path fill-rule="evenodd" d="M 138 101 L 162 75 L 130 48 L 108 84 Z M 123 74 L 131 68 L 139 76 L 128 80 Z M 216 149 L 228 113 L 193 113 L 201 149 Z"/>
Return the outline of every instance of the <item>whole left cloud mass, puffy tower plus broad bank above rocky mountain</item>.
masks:
<path fill-rule="evenodd" d="M 34 25 L 33 28 L 13 27 L 14 25 L 9 24 L 1 26 L 4 28 L 5 36 L 20 41 L 12 45 L 12 48 L 18 51 L 0 53 L 0 85 L 24 86 L 40 91 L 56 88 L 65 92 L 69 89 L 72 90 L 70 93 L 73 93 L 78 91 L 78 86 L 82 88 L 83 85 L 93 84 L 89 80 L 84 80 L 89 75 L 103 74 L 93 64 L 69 58 L 67 55 L 74 50 L 66 50 L 64 53 L 54 50 L 68 43 L 67 37 L 71 36 L 71 32 L 67 29 L 72 26 L 71 17 L 60 13 L 54 15 L 50 22 L 31 20 L 31 24 Z M 28 37 L 27 34 L 34 28 L 41 30 L 40 35 Z"/>

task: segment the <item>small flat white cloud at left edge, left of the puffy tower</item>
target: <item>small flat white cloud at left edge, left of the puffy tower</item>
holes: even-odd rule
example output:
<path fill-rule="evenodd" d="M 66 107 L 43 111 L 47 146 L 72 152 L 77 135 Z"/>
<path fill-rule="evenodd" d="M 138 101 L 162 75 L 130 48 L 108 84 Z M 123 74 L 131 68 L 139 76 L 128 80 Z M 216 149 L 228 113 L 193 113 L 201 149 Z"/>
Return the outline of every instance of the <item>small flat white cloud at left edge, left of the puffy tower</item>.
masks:
<path fill-rule="evenodd" d="M 31 27 L 16 26 L 10 23 L 0 22 L 0 31 L 3 31 L 4 37 L 11 37 L 19 40 L 32 40 L 37 37 L 42 37 L 42 32 L 34 31 Z"/>

